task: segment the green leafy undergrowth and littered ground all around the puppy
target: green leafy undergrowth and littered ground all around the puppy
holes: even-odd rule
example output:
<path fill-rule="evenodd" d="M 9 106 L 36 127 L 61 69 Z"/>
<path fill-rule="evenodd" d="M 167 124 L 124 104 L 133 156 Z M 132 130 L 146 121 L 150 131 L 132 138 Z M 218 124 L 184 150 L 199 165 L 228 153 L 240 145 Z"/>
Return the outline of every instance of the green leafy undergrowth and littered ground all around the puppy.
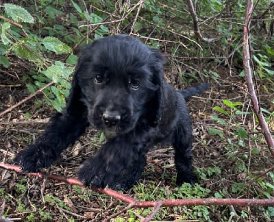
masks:
<path fill-rule="evenodd" d="M 178 3 L 177 8 L 174 8 L 173 1 L 166 1 L 166 4 L 145 1 L 141 13 L 136 14 L 138 5 L 134 8 L 134 4 L 130 5 L 129 2 L 129 5 L 121 5 L 120 1 L 115 1 L 115 4 L 114 1 L 104 2 L 105 5 L 98 1 L 86 10 L 83 3 L 77 4 L 74 1 L 38 1 L 36 5 L 21 1 L 20 7 L 27 8 L 31 12 L 30 16 L 34 16 L 34 24 L 31 19 L 21 21 L 17 17 L 19 12 L 23 17 L 26 16 L 25 11 L 13 5 L 5 5 L 3 15 L 18 24 L 22 23 L 23 29 L 1 20 L 0 111 L 51 81 L 55 84 L 8 114 L 0 116 L 0 161 L 12 164 L 16 153 L 33 143 L 42 132 L 49 116 L 64 106 L 79 45 L 117 32 L 129 34 L 137 16 L 133 34 L 145 36 L 141 39 L 147 45 L 166 54 L 169 61 L 166 78 L 173 86 L 186 88 L 197 82 L 210 82 L 212 88 L 188 102 L 194 135 L 192 156 L 199 182 L 193 186 L 183 184 L 177 187 L 173 148 L 169 145 L 155 146 L 148 153 L 147 167 L 141 180 L 127 194 L 139 200 L 273 198 L 274 173 L 269 171 L 262 174 L 273 167 L 273 157 L 253 114 L 242 76 L 242 27 L 238 23 L 242 21 L 245 7 L 241 1 L 234 1 L 229 7 L 220 1 L 211 1 L 210 4 L 203 1 L 203 4 L 197 5 L 197 12 L 204 19 L 200 25 L 201 31 L 209 36 L 222 37 L 210 44 L 200 42 L 201 45 L 192 40 L 195 38 L 191 32 L 185 31 L 192 30 L 188 13 L 180 10 L 186 8 L 185 3 Z M 12 10 L 19 12 L 12 14 Z M 229 14 L 228 18 L 225 17 L 227 10 L 235 10 L 234 29 L 227 29 L 225 19 L 232 16 Z M 259 15 L 263 12 L 255 10 L 256 18 L 262 18 Z M 211 21 L 215 14 L 219 14 L 220 19 Z M 263 18 L 256 20 L 254 29 L 264 25 L 264 21 Z M 89 28 L 84 26 L 86 23 L 104 22 L 109 23 Z M 269 23 L 265 25 L 269 27 Z M 253 60 L 258 74 L 257 88 L 260 106 L 273 132 L 274 53 L 269 47 L 273 44 L 273 37 L 271 40 L 258 30 L 253 33 L 256 36 L 253 43 L 257 51 L 254 50 L 256 55 Z M 79 165 L 95 153 L 101 143 L 101 134 L 88 128 L 73 147 L 64 151 L 62 160 L 47 171 L 77 177 Z M 14 221 L 102 221 L 125 207 L 121 201 L 99 195 L 88 188 L 2 169 L 0 172 L 0 216 Z M 140 221 L 137 214 L 146 217 L 149 212 L 151 208 L 134 208 L 114 221 Z M 177 206 L 161 208 L 153 219 L 273 221 L 274 208 Z"/>

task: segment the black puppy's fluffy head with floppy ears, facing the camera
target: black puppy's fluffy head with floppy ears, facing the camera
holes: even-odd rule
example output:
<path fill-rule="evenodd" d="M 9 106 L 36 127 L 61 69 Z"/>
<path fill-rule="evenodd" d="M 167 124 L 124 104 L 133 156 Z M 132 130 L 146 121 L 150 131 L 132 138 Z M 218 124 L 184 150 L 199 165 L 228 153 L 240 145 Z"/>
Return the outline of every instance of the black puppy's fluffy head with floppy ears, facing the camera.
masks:
<path fill-rule="evenodd" d="M 123 134 L 160 119 L 164 59 L 126 35 L 96 40 L 82 50 L 75 78 L 93 127 Z"/>

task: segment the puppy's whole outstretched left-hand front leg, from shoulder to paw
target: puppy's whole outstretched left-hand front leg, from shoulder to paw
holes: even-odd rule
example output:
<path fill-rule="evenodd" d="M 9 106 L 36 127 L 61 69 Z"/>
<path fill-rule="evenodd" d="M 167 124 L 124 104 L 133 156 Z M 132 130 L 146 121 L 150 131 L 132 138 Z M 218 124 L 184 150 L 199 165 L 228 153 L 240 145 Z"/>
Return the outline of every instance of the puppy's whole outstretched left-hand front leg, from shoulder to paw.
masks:
<path fill-rule="evenodd" d="M 76 79 L 66 108 L 62 113 L 55 114 L 45 132 L 27 149 L 19 152 L 14 159 L 15 164 L 25 172 L 37 172 L 43 167 L 49 167 L 58 158 L 62 150 L 84 132 L 88 125 L 86 106 L 80 101 L 80 89 Z"/>

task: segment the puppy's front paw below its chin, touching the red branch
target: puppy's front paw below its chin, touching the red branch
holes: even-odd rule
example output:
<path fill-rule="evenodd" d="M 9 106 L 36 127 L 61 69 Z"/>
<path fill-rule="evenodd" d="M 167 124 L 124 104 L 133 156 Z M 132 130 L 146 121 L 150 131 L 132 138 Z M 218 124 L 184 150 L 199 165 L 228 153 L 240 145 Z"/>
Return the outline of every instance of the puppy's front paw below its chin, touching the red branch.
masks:
<path fill-rule="evenodd" d="M 107 162 L 99 158 L 86 160 L 79 168 L 78 177 L 86 186 L 96 186 L 105 188 L 114 182 L 114 178 L 119 174 L 115 167 L 111 167 Z"/>

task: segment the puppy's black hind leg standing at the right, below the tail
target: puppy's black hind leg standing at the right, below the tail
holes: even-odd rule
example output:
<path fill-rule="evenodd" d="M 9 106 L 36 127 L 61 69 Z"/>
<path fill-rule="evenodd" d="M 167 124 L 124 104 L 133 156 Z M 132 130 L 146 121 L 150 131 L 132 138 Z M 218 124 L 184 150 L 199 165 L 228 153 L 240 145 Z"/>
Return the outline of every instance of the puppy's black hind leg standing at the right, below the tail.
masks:
<path fill-rule="evenodd" d="M 178 186 L 183 182 L 194 184 L 197 182 L 196 175 L 192 172 L 192 127 L 191 123 L 177 125 L 174 132 L 173 147 L 175 148 L 175 166 L 177 169 Z"/>

